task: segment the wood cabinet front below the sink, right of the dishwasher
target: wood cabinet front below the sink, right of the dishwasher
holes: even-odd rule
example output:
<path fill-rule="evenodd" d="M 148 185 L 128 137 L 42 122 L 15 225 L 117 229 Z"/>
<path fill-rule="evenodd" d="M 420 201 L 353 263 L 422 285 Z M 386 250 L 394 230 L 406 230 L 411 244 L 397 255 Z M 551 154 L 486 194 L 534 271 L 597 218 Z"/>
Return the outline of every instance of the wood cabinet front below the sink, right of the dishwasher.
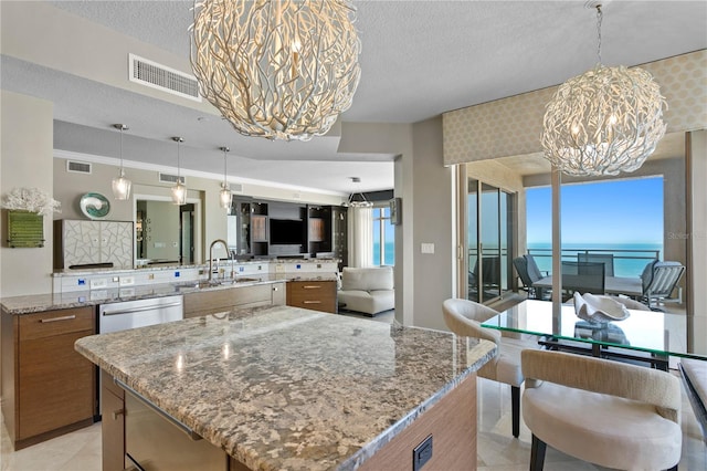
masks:
<path fill-rule="evenodd" d="M 285 304 L 285 283 L 253 284 L 184 294 L 184 318 L 230 311 Z"/>

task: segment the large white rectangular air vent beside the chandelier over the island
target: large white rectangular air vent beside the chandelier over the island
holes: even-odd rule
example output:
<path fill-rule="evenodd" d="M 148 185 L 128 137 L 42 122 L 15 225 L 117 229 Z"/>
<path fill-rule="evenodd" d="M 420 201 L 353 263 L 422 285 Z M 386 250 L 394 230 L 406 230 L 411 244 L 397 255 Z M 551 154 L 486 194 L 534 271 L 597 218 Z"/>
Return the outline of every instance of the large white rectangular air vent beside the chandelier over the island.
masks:
<path fill-rule="evenodd" d="M 135 54 L 128 54 L 128 56 L 130 82 L 141 83 L 172 95 L 201 102 L 199 83 L 193 75 L 176 71 Z"/>

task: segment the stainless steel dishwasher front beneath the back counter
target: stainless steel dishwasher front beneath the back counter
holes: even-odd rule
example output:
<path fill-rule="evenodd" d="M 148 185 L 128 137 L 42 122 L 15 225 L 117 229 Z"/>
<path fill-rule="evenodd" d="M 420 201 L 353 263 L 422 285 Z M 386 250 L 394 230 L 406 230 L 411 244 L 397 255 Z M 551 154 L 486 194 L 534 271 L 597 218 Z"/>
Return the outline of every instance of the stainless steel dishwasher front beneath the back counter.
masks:
<path fill-rule="evenodd" d="M 127 331 L 184 318 L 183 296 L 123 301 L 98 306 L 98 333 Z"/>

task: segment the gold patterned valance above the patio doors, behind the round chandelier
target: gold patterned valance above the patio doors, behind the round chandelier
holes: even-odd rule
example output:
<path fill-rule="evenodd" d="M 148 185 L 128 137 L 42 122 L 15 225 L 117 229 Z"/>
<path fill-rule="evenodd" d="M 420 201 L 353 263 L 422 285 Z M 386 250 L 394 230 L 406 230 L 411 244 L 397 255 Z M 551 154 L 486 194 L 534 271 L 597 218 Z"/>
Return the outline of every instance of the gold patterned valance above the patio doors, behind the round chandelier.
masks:
<path fill-rule="evenodd" d="M 641 67 L 653 75 L 667 101 L 667 133 L 707 128 L 707 50 Z M 556 90 L 551 86 L 444 113 L 444 164 L 542 151 L 545 105 Z"/>

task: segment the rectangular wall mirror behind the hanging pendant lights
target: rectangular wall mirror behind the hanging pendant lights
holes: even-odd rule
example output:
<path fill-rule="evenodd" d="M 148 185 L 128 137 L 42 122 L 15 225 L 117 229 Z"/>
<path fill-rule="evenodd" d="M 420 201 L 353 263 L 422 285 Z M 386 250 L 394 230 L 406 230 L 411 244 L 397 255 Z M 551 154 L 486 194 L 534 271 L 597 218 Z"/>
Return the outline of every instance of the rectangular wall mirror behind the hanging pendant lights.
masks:
<path fill-rule="evenodd" d="M 135 196 L 135 266 L 201 263 L 201 201 L 187 198 L 177 206 L 171 198 Z"/>

